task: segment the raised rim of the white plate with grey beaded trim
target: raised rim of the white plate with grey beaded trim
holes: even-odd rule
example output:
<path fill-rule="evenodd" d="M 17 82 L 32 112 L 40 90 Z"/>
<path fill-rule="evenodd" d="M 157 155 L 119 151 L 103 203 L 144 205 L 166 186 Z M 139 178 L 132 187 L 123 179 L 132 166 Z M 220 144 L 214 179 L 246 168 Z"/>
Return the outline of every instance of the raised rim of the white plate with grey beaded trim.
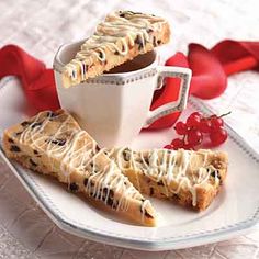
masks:
<path fill-rule="evenodd" d="M 4 80 L 4 83 L 0 86 L 2 89 L 10 79 Z M 198 110 L 205 114 L 211 113 L 204 103 L 198 99 L 191 97 L 189 102 Z M 246 140 L 237 134 L 229 124 L 225 123 L 228 131 L 228 135 L 232 140 L 241 149 L 250 159 L 259 165 L 259 155 L 246 143 Z M 0 156 L 3 158 L 5 164 L 9 166 L 11 171 L 21 181 L 31 196 L 40 204 L 42 210 L 52 218 L 52 221 L 65 232 L 71 233 L 77 236 L 87 237 L 94 241 L 101 241 L 109 245 L 115 245 L 126 248 L 134 248 L 140 250 L 167 250 L 193 247 L 199 245 L 204 245 L 217 240 L 224 240 L 233 236 L 237 236 L 240 233 L 248 232 L 252 226 L 255 226 L 259 221 L 259 204 L 255 207 L 255 213 L 247 219 L 238 222 L 236 224 L 229 224 L 221 228 L 215 228 L 211 230 L 203 230 L 190 235 L 171 236 L 165 238 L 136 238 L 127 235 L 120 235 L 112 232 L 106 232 L 97 227 L 88 226 L 76 222 L 75 219 L 68 218 L 63 214 L 56 205 L 52 202 L 50 198 L 42 190 L 42 188 L 34 181 L 34 179 L 23 172 L 20 166 L 15 162 L 9 160 L 2 150 L 2 144 L 0 145 Z M 192 244 L 192 245 L 190 245 Z"/>

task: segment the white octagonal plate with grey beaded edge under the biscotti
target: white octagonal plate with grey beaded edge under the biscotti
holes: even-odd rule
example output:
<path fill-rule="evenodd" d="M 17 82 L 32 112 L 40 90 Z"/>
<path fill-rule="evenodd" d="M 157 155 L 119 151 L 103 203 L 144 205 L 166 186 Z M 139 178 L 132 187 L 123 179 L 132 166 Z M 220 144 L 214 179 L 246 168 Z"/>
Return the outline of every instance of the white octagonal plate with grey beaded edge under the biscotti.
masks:
<path fill-rule="evenodd" d="M 0 82 L 0 133 L 35 112 L 26 106 L 13 77 Z M 193 110 L 210 111 L 191 99 L 183 116 Z M 196 213 L 170 202 L 150 199 L 162 216 L 158 227 L 142 227 L 120 221 L 68 193 L 60 184 L 23 169 L 1 156 L 47 215 L 64 230 L 115 246 L 144 250 L 167 250 L 219 241 L 247 232 L 259 219 L 258 155 L 227 126 L 229 138 L 221 149 L 229 154 L 227 181 L 213 204 Z M 134 148 L 162 147 L 173 138 L 172 128 L 142 133 Z"/>

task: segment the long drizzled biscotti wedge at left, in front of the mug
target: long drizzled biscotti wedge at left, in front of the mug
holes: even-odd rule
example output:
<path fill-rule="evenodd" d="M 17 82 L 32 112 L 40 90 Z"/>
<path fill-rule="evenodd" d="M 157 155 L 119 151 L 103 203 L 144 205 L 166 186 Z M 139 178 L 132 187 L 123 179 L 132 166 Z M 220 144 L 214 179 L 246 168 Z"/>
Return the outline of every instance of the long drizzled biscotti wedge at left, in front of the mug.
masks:
<path fill-rule="evenodd" d="M 150 202 L 63 110 L 41 112 L 5 130 L 3 149 L 24 167 L 67 183 L 71 192 L 99 200 L 138 224 L 156 224 Z"/>

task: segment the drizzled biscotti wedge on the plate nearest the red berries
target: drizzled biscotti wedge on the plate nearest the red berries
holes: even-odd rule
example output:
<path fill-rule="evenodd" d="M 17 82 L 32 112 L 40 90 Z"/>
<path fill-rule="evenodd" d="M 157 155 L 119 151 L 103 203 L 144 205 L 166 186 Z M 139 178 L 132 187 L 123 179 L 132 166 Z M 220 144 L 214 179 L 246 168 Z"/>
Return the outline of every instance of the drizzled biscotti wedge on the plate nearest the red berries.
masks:
<path fill-rule="evenodd" d="M 227 173 L 227 155 L 222 151 L 119 148 L 106 153 L 139 192 L 198 211 L 212 203 Z"/>

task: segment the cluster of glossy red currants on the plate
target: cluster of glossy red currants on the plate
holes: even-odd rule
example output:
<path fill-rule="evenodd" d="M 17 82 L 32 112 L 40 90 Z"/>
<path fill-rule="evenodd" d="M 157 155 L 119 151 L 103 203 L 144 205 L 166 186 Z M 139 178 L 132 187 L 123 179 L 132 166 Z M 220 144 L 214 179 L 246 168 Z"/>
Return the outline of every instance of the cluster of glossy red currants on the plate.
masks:
<path fill-rule="evenodd" d="M 168 149 L 195 149 L 200 147 L 205 138 L 209 137 L 211 146 L 216 147 L 226 142 L 227 132 L 224 128 L 223 116 L 211 115 L 203 116 L 200 112 L 192 113 L 184 122 L 178 122 L 174 130 L 180 137 L 174 138 L 170 145 L 165 146 Z"/>

